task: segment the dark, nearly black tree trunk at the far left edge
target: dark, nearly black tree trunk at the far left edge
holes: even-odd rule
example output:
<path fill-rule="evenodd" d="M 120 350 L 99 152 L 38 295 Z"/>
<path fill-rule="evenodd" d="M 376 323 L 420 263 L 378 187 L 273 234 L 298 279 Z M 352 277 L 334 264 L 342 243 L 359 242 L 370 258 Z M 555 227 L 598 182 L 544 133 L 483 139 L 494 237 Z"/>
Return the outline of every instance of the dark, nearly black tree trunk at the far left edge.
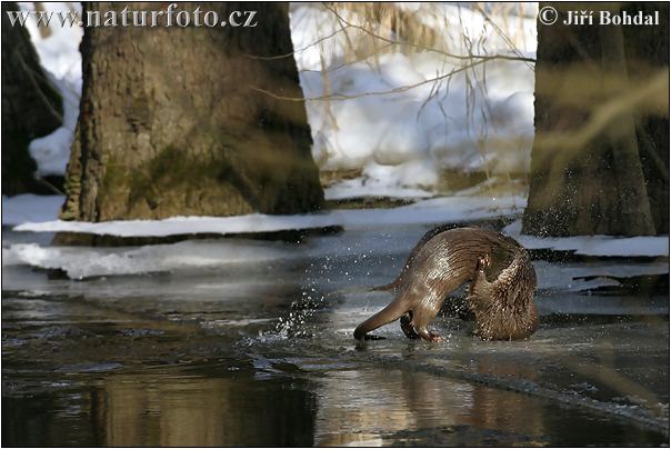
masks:
<path fill-rule="evenodd" d="M 9 21 L 7 11 L 19 10 L 16 2 L 2 2 L 2 193 L 48 193 L 33 177 L 37 164 L 28 144 L 60 127 L 61 96 L 42 70 L 28 31 Z"/>

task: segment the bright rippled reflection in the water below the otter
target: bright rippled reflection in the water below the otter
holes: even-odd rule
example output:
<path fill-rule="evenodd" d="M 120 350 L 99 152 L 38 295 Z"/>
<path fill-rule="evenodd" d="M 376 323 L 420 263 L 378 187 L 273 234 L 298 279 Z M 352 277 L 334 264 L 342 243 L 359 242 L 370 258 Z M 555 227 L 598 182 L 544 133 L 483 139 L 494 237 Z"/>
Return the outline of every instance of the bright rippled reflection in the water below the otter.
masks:
<path fill-rule="evenodd" d="M 543 435 L 540 400 L 403 369 L 331 372 L 318 398 L 318 446 L 380 446 L 390 436 L 432 428 Z M 470 440 L 453 438 L 479 441 L 474 433 Z"/>

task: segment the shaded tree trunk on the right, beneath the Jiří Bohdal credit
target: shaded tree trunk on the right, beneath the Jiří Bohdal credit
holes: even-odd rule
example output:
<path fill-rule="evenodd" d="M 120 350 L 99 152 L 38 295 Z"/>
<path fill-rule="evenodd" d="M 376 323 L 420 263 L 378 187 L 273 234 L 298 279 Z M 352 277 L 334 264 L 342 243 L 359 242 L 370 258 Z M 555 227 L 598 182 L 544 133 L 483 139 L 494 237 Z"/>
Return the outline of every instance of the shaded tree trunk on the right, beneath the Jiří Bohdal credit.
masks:
<path fill-rule="evenodd" d="M 627 7 L 630 13 L 661 11 L 662 23 L 652 33 L 650 27 L 625 30 L 597 20 L 562 24 L 568 10 L 619 12 L 617 4 L 539 7 L 545 6 L 560 13 L 554 24 L 538 24 L 535 138 L 523 232 L 668 232 L 668 212 L 651 207 L 668 201 L 668 47 L 665 61 L 649 58 L 660 47 L 652 42 L 668 42 L 668 4 Z"/>

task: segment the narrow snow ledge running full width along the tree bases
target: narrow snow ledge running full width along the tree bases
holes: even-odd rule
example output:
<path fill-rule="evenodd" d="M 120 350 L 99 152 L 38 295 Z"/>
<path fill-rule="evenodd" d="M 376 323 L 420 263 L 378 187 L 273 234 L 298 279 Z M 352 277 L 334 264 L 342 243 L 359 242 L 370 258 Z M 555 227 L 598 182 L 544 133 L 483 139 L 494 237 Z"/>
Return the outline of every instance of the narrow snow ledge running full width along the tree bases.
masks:
<path fill-rule="evenodd" d="M 418 192 L 419 196 L 419 192 Z M 62 196 L 19 194 L 2 197 L 2 226 L 16 231 L 84 232 L 119 237 L 166 237 L 189 233 L 271 232 L 342 226 L 365 229 L 380 226 L 467 222 L 520 213 L 527 206 L 522 197 L 441 197 L 420 200 L 393 209 L 342 209 L 303 216 L 173 217 L 164 220 L 106 221 L 101 223 L 56 220 Z M 584 256 L 669 257 L 669 236 L 613 237 L 575 236 L 538 238 L 521 235 L 521 220 L 503 229 L 529 249 L 575 251 Z"/>

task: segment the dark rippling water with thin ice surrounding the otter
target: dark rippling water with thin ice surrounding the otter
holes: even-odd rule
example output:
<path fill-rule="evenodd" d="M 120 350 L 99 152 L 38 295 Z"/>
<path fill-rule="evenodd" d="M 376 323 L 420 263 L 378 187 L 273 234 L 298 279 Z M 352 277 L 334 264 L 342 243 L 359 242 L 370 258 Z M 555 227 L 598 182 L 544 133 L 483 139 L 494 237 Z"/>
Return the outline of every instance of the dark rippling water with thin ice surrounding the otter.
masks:
<path fill-rule="evenodd" d="M 390 296 L 353 287 L 393 278 L 423 231 L 198 242 L 183 260 L 236 261 L 79 281 L 3 262 L 2 445 L 668 446 L 668 298 L 557 275 L 612 259 L 539 261 L 541 286 L 559 281 L 527 341 L 480 341 L 448 310 L 442 343 L 398 325 L 355 342 Z"/>

